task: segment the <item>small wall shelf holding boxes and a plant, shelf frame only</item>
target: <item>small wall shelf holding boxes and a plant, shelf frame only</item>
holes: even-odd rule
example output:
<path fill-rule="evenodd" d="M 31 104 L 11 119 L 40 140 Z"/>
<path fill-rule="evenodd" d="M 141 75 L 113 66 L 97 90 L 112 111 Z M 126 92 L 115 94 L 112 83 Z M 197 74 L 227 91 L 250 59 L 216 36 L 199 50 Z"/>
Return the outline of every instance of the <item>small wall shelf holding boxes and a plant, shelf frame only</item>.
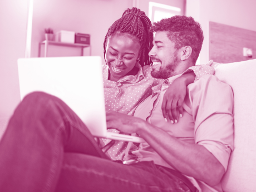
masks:
<path fill-rule="evenodd" d="M 83 56 L 83 48 L 89 47 L 90 48 L 90 56 L 91 56 L 91 46 L 90 45 L 86 45 L 86 44 L 82 44 L 82 43 L 64 43 L 64 42 L 45 40 L 45 41 L 42 41 L 41 43 L 39 43 L 38 57 L 41 56 L 41 45 L 45 45 L 45 57 L 47 57 L 47 51 L 48 51 L 49 45 L 81 48 L 81 56 Z"/>

